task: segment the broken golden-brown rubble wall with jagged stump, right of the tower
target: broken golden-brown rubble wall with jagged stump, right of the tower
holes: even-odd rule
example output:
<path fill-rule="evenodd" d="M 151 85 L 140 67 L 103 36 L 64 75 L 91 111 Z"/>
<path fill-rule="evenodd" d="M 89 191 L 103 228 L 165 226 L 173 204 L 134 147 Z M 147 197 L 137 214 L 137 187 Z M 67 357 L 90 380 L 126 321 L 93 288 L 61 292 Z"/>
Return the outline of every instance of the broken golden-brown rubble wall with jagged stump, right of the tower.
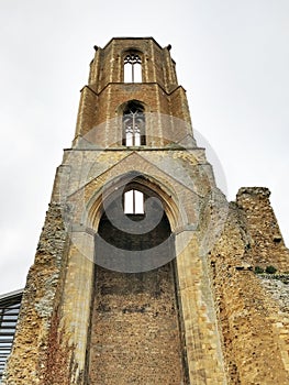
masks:
<path fill-rule="evenodd" d="M 243 188 L 210 253 L 215 308 L 230 384 L 288 384 L 286 284 L 269 285 L 254 266 L 288 271 L 289 254 L 265 188 Z M 278 242 L 276 242 L 278 239 Z"/>

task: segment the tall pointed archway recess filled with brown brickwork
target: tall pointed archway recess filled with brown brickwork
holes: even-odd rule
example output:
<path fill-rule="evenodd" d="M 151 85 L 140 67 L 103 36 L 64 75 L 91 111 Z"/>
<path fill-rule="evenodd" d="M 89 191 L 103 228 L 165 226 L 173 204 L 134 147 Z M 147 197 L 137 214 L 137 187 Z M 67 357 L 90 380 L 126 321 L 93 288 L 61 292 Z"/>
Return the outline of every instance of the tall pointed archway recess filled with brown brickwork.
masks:
<path fill-rule="evenodd" d="M 185 349 L 169 220 L 143 178 L 120 190 L 103 204 L 96 234 L 89 381 L 181 384 Z M 131 190 L 143 194 L 143 213 L 125 213 Z"/>

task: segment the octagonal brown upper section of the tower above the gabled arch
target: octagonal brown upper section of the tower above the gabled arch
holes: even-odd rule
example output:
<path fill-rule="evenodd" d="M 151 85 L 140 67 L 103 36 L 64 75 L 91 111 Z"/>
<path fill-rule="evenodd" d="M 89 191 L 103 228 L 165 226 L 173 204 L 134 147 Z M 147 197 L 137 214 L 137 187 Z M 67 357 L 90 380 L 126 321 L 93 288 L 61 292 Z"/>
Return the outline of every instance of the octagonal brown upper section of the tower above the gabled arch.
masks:
<path fill-rule="evenodd" d="M 170 45 L 163 48 L 153 37 L 114 37 L 95 50 L 74 144 L 85 138 L 100 147 L 123 148 L 123 117 L 141 112 L 145 128 L 135 145 L 184 145 L 185 141 L 194 146 L 186 91 L 177 82 Z"/>

